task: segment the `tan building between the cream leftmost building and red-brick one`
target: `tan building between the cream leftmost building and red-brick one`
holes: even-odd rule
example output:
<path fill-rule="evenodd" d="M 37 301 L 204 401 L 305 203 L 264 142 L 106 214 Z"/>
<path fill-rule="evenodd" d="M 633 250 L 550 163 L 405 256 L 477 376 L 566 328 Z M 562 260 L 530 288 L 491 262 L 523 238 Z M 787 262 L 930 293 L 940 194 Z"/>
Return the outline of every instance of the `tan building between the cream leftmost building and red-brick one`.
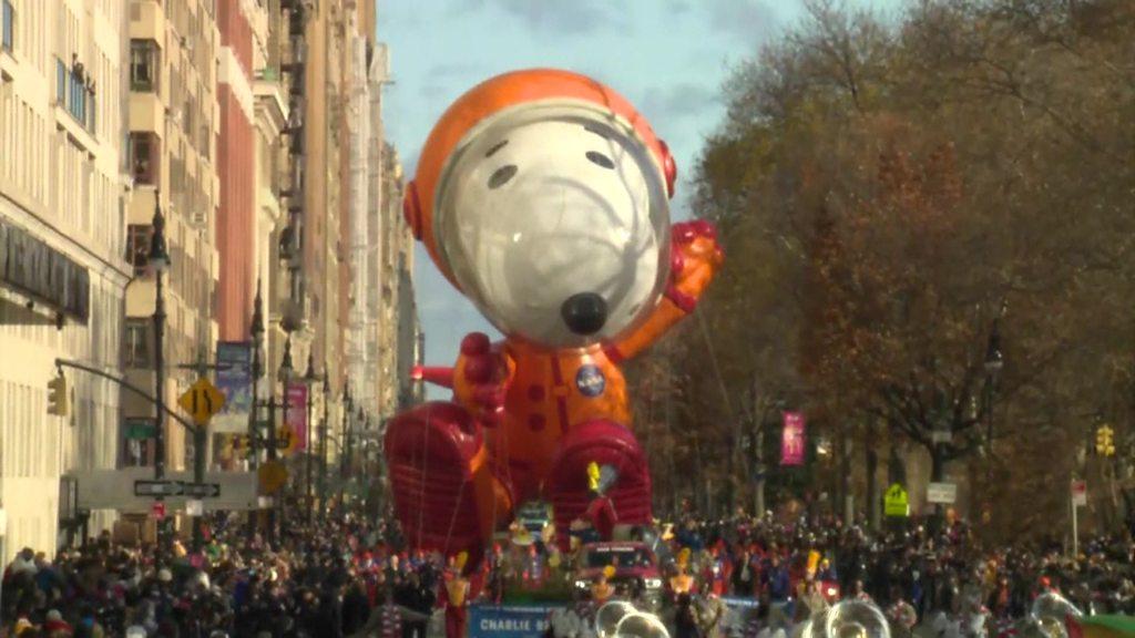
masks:
<path fill-rule="evenodd" d="M 221 40 L 213 0 L 129 0 L 129 135 L 126 152 L 133 192 L 127 207 L 126 254 L 134 280 L 126 295 L 124 360 L 126 377 L 154 387 L 152 316 L 155 277 L 148 252 L 155 208 L 166 219 L 170 268 L 165 276 L 167 313 L 162 353 L 165 401 L 176 405 L 195 372 L 182 368 L 209 359 L 218 337 L 218 74 L 233 74 L 230 58 L 221 64 Z M 229 75 L 229 76 L 230 76 Z M 226 77 L 229 77 L 226 76 Z M 148 418 L 153 406 L 124 397 L 121 465 L 153 462 Z M 161 419 L 166 428 L 166 465 L 192 468 L 193 446 L 183 428 Z"/>

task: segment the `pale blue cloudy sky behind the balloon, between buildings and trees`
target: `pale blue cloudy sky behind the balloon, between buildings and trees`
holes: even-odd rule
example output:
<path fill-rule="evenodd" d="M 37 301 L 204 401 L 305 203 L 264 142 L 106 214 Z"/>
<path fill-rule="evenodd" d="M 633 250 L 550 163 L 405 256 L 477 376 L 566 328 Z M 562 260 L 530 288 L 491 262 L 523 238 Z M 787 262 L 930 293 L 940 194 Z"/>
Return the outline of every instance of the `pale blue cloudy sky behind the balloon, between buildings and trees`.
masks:
<path fill-rule="evenodd" d="M 898 3 L 852 2 L 884 12 Z M 521 68 L 582 73 L 628 98 L 670 145 L 679 175 L 672 215 L 680 219 L 688 215 L 686 179 L 724 118 L 721 89 L 731 69 L 802 11 L 799 0 L 379 0 L 378 37 L 389 47 L 394 79 L 384 95 L 386 134 L 412 177 L 435 121 L 469 89 Z M 414 282 L 427 364 L 452 364 L 470 331 L 499 336 L 420 244 Z"/>

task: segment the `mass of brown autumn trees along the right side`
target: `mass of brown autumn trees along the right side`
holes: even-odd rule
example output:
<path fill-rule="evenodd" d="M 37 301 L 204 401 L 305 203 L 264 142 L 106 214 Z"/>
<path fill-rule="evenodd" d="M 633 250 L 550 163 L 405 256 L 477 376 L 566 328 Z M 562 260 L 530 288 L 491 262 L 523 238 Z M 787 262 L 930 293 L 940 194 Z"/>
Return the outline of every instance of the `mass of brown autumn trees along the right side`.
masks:
<path fill-rule="evenodd" d="M 671 427 L 726 457 L 762 406 L 799 408 L 968 476 L 1003 534 L 1059 520 L 1093 423 L 1135 435 L 1135 3 L 923 0 L 884 24 L 816 0 L 725 98 L 696 212 L 728 263 L 683 327 Z"/>

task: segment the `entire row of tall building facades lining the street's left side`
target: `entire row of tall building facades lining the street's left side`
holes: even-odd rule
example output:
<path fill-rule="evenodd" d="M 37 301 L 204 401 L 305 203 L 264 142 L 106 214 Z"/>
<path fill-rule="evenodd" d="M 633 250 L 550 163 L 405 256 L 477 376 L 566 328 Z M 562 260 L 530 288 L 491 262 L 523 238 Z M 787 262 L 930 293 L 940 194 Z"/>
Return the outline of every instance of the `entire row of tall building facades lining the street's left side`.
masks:
<path fill-rule="evenodd" d="M 0 551 L 145 515 L 79 511 L 73 475 L 151 465 L 154 406 L 65 370 L 70 412 L 53 415 L 48 381 L 62 358 L 154 387 L 155 211 L 167 405 L 219 341 L 250 338 L 260 288 L 261 398 L 287 342 L 328 388 L 313 425 L 327 414 L 330 462 L 352 445 L 356 468 L 377 462 L 420 329 L 375 5 L 0 0 Z M 186 433 L 159 422 L 168 470 L 192 468 Z M 245 468 L 227 443 L 207 454 Z"/>

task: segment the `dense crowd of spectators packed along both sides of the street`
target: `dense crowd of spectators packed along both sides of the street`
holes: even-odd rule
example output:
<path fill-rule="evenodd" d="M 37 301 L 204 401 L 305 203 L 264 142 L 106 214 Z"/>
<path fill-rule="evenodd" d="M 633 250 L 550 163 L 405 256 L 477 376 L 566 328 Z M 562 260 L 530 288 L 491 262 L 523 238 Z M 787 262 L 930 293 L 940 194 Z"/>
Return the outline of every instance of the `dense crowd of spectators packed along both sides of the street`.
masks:
<path fill-rule="evenodd" d="M 799 622 L 839 598 L 858 598 L 898 626 L 976 610 L 991 622 L 1011 621 L 1045 591 L 1086 612 L 1135 611 L 1129 537 L 1088 539 L 1069 555 L 1056 543 L 983 547 L 961 521 L 933 527 L 939 531 L 907 523 L 868 532 L 834 518 L 739 512 L 716 521 L 684 514 L 632 534 L 651 544 L 667 584 L 679 571 L 692 577 L 692 591 L 667 597 L 667 618 L 678 620 L 683 605 L 743 598 L 758 602 L 765 622 L 768 610 Z M 53 557 L 25 548 L 3 572 L 0 637 L 426 638 L 445 605 L 454 557 L 407 552 L 396 526 L 351 514 L 311 526 L 288 521 L 283 530 L 270 545 L 260 535 L 250 539 L 239 518 L 218 515 L 202 551 L 176 542 L 162 561 L 154 545 L 116 544 L 109 535 Z M 690 559 L 679 559 L 683 548 Z M 514 587 L 572 578 L 571 555 L 539 535 L 504 540 L 474 563 L 469 599 L 489 604 Z M 715 633 L 708 627 L 684 635 Z"/>

